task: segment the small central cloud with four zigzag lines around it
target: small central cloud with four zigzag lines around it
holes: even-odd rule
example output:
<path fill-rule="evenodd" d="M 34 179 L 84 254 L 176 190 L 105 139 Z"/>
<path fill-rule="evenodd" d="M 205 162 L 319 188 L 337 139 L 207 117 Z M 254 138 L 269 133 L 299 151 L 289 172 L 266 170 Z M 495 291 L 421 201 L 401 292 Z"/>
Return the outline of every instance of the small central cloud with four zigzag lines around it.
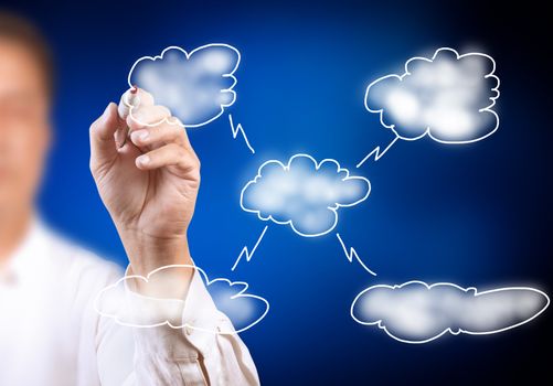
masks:
<path fill-rule="evenodd" d="M 241 194 L 241 206 L 262 221 L 289 225 L 305 237 L 322 236 L 338 224 L 338 210 L 366 200 L 371 183 L 351 176 L 330 159 L 317 162 L 308 154 L 296 154 L 288 163 L 270 160 Z"/>

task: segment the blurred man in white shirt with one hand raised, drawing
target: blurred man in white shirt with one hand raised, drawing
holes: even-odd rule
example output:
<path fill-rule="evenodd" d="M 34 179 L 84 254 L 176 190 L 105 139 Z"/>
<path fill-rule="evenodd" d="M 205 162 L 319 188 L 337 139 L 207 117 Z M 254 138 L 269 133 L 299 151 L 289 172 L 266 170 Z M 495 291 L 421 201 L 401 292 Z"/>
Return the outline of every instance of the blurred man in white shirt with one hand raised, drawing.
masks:
<path fill-rule="evenodd" d="M 40 34 L 0 13 L 0 385 L 258 384 L 236 334 L 128 328 L 95 312 L 96 294 L 123 274 L 46 229 L 33 206 L 51 140 L 51 67 Z M 139 97 L 132 115 L 140 119 L 111 103 L 92 125 L 91 170 L 127 251 L 127 274 L 146 277 L 192 265 L 187 229 L 200 163 L 185 130 L 138 124 L 170 116 L 143 90 Z M 140 296 L 182 299 L 177 325 L 228 329 L 198 272 L 176 269 L 157 280 L 171 286 L 130 282 L 126 307 L 140 314 L 132 303 Z"/>

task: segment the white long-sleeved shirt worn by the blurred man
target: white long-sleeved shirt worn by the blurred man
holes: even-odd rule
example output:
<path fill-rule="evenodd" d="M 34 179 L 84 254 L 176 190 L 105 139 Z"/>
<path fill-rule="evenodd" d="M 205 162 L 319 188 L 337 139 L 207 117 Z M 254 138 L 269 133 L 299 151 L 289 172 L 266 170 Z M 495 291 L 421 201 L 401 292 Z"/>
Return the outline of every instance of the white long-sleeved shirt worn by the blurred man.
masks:
<path fill-rule="evenodd" d="M 0 385 L 259 384 L 236 334 L 128 328 L 99 317 L 96 294 L 121 276 L 35 222 L 0 276 Z M 230 323 L 198 276 L 188 293 L 183 321 Z"/>

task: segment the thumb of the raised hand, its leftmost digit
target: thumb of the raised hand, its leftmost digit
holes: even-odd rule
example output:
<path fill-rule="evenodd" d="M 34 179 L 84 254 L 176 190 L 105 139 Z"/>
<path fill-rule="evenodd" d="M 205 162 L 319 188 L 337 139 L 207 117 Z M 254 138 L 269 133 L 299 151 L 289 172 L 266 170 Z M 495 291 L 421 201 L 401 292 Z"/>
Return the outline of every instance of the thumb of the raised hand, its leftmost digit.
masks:
<path fill-rule="evenodd" d="M 117 105 L 107 105 L 104 114 L 91 125 L 91 169 L 102 168 L 118 156 L 114 133 L 121 126 Z"/>

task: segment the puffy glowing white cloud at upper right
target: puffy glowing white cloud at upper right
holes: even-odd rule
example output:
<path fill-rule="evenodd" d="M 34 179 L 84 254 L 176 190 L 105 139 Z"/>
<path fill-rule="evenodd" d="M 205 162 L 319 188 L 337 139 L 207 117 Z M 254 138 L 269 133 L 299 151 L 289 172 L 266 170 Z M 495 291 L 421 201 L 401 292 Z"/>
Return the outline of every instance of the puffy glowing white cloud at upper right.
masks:
<path fill-rule="evenodd" d="M 403 75 L 371 83 L 365 107 L 380 114 L 381 124 L 400 139 L 428 135 L 442 143 L 476 142 L 499 127 L 491 109 L 499 97 L 494 71 L 491 56 L 439 49 L 432 58 L 408 60 Z"/>

